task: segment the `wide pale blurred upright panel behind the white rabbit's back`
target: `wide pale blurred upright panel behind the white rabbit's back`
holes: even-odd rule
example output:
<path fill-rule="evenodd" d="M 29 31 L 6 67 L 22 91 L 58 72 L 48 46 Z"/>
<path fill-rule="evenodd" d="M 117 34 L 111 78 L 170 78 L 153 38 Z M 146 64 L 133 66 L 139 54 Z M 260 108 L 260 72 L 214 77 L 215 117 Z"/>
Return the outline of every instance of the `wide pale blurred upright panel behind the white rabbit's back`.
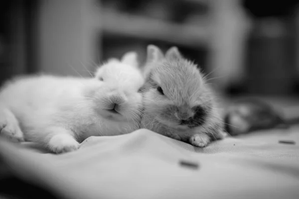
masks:
<path fill-rule="evenodd" d="M 95 0 L 40 0 L 38 71 L 89 76 L 100 43 L 101 17 Z"/>

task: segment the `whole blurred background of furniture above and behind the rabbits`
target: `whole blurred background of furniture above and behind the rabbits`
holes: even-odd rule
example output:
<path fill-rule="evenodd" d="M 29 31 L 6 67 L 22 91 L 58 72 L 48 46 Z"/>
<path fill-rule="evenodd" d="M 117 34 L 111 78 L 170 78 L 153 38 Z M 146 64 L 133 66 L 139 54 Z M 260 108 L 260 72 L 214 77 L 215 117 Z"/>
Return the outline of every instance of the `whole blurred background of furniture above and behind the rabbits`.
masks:
<path fill-rule="evenodd" d="M 298 96 L 298 0 L 1 0 L 0 83 L 177 46 L 221 94 Z"/>

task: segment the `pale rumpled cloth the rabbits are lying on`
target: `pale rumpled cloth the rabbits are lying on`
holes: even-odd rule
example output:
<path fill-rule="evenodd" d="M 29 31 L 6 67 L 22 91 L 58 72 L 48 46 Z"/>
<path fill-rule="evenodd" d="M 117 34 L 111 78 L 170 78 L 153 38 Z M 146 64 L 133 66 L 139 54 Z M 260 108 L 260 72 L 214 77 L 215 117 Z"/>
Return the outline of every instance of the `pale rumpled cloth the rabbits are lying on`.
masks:
<path fill-rule="evenodd" d="M 69 199 L 299 199 L 298 127 L 206 148 L 141 129 L 90 137 L 62 155 L 0 140 L 0 155 L 24 180 Z"/>

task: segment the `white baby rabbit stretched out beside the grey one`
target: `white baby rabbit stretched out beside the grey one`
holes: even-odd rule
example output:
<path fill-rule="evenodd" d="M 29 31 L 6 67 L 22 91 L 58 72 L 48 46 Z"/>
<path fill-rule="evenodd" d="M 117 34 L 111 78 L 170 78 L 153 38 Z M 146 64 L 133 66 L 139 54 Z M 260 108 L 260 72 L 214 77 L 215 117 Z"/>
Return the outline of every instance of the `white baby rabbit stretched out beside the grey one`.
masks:
<path fill-rule="evenodd" d="M 140 125 L 143 84 L 135 52 L 109 60 L 94 78 L 15 78 L 0 91 L 0 134 L 61 153 L 89 136 L 132 132 Z"/>

